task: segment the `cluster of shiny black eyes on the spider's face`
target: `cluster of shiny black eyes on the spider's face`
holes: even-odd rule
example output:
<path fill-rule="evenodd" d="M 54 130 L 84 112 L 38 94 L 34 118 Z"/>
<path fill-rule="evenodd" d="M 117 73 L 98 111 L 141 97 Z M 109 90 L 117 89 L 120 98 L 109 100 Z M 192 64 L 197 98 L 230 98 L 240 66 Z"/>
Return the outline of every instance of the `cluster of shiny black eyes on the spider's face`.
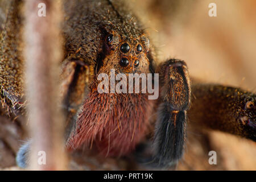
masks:
<path fill-rule="evenodd" d="M 107 41 L 108 41 L 108 42 L 111 42 L 112 40 L 113 40 L 113 35 L 111 34 L 111 35 L 108 36 Z M 130 48 L 129 44 L 127 44 L 127 43 L 123 43 L 123 44 L 121 45 L 121 47 L 120 47 L 120 50 L 121 50 L 123 53 L 128 53 L 128 52 L 130 51 L 130 49 L 131 49 L 131 48 Z M 136 48 L 136 53 L 138 54 L 138 53 L 140 53 L 140 52 L 142 52 L 142 46 L 141 46 L 141 44 L 138 44 L 138 46 L 137 46 L 137 48 Z M 120 64 L 122 67 L 127 67 L 127 65 L 129 65 L 129 60 L 128 60 L 126 57 L 123 57 L 123 58 L 120 60 L 119 64 Z M 134 61 L 134 67 L 138 67 L 138 65 L 139 65 L 139 61 L 138 61 L 138 60 L 135 60 L 135 61 Z"/>

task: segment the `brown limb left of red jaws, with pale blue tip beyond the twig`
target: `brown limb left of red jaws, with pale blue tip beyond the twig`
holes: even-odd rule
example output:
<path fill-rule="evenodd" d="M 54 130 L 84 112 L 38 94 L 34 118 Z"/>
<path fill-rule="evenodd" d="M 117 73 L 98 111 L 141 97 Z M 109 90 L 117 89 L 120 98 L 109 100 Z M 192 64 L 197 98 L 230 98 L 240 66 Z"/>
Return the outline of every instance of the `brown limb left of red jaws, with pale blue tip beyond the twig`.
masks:
<path fill-rule="evenodd" d="M 77 113 L 89 92 L 90 67 L 82 61 L 64 60 L 61 65 L 60 86 L 61 107 L 66 121 L 65 140 L 75 134 Z M 66 146 L 68 146 L 66 142 Z M 16 155 L 16 163 L 21 168 L 26 168 L 29 162 L 32 139 L 20 147 Z"/>

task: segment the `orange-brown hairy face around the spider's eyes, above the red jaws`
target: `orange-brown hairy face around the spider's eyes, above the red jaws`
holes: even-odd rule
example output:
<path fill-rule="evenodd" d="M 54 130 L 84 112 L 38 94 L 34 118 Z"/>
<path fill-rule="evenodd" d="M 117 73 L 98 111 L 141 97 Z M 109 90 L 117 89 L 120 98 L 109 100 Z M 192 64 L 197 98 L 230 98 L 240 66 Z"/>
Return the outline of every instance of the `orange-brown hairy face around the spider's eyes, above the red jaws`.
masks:
<path fill-rule="evenodd" d="M 147 54 L 150 41 L 146 35 L 139 36 L 112 32 L 104 38 L 104 57 L 99 73 L 148 73 L 149 61 Z"/>

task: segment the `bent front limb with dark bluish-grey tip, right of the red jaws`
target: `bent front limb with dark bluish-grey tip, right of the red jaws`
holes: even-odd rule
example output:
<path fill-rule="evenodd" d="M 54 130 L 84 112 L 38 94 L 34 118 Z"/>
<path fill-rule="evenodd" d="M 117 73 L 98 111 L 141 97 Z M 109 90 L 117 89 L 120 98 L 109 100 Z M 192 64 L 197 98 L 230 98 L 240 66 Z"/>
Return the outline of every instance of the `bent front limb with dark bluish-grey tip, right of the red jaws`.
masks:
<path fill-rule="evenodd" d="M 175 167 L 183 155 L 190 84 L 184 61 L 171 59 L 159 65 L 160 106 L 151 156 L 141 162 L 154 168 Z M 146 148 L 148 145 L 144 145 Z M 142 146 L 141 146 L 142 147 Z"/>

